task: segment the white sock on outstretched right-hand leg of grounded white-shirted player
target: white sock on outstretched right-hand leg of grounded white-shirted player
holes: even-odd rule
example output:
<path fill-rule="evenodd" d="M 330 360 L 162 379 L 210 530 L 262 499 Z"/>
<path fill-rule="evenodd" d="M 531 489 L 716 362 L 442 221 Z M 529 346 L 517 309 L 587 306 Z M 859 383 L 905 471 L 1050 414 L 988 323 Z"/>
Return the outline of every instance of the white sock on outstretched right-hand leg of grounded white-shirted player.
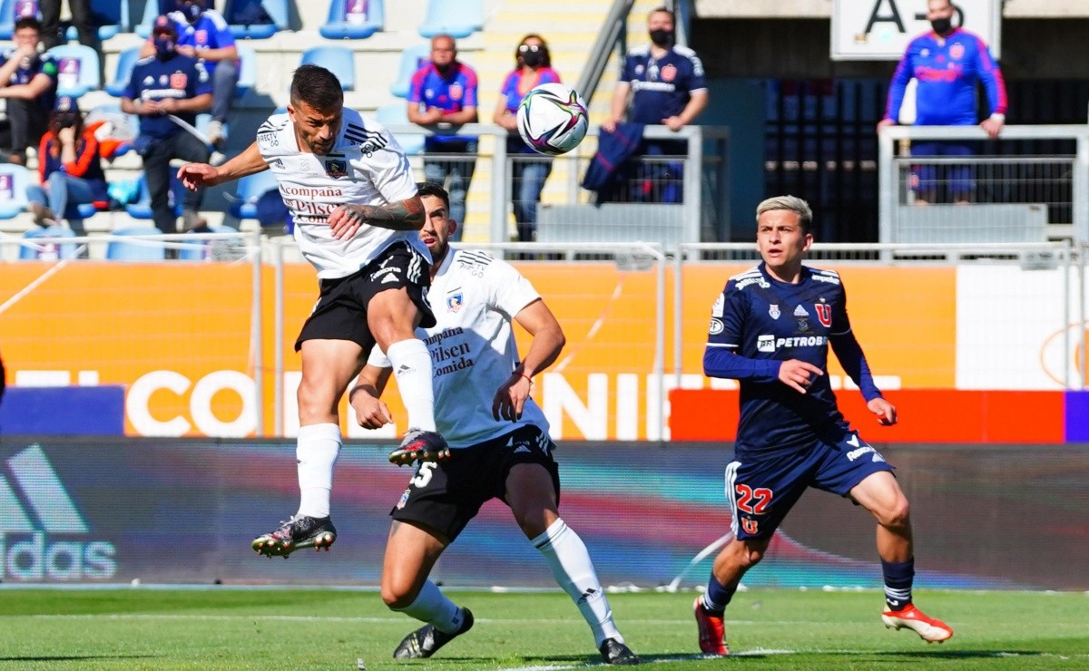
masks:
<path fill-rule="evenodd" d="M 616 638 L 624 643 L 624 637 L 613 622 L 612 609 L 594 570 L 590 554 L 586 551 L 586 545 L 578 534 L 563 520 L 556 520 L 531 543 L 544 555 L 555 582 L 575 601 L 586 623 L 590 625 L 594 645 L 601 647 L 605 638 Z"/>

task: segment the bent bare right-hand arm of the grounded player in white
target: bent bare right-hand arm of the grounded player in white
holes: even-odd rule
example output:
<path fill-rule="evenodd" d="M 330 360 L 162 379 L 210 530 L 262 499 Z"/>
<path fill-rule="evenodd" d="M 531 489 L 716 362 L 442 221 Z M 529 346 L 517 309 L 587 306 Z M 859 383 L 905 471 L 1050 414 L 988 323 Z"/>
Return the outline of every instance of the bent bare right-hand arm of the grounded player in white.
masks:
<path fill-rule="evenodd" d="M 533 341 L 522 363 L 491 401 L 492 417 L 512 422 L 522 417 L 522 409 L 534 388 L 534 375 L 552 365 L 567 343 L 560 322 L 540 298 L 519 310 L 514 321 L 533 336 Z"/>

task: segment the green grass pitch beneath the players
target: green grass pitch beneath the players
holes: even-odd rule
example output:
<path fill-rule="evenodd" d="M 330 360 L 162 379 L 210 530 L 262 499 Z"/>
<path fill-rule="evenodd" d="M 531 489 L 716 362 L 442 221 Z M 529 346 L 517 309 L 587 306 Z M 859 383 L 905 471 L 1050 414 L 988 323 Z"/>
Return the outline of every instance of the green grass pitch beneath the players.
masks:
<path fill-rule="evenodd" d="M 473 632 L 436 658 L 394 662 L 416 627 L 375 592 L 3 589 L 0 669 L 567 669 L 597 666 L 589 630 L 556 593 L 451 592 Z M 693 593 L 613 594 L 617 624 L 653 669 L 1089 669 L 1089 595 L 922 592 L 956 630 L 943 645 L 886 631 L 877 592 L 750 591 L 726 612 L 730 659 L 695 654 Z"/>

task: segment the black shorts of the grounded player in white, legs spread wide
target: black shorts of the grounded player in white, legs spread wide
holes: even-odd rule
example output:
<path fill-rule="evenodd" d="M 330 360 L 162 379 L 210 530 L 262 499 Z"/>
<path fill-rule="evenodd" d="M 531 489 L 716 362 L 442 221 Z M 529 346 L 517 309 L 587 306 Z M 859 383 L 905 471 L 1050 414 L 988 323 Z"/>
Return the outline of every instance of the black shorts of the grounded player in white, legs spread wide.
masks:
<path fill-rule="evenodd" d="M 552 458 L 555 444 L 537 426 L 514 432 L 473 447 L 450 450 L 442 463 L 423 462 L 390 511 L 399 522 L 418 522 L 453 542 L 493 498 L 506 504 L 506 477 L 519 463 L 539 463 L 552 475 L 560 502 L 560 468 Z"/>

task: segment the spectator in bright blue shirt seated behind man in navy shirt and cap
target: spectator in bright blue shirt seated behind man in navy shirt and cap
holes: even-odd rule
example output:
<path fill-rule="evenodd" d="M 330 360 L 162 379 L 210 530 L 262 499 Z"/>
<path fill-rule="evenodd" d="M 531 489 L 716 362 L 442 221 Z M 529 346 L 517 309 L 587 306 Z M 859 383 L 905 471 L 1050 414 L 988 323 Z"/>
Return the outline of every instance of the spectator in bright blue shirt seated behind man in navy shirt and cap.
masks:
<path fill-rule="evenodd" d="M 228 116 L 238 85 L 238 49 L 223 15 L 208 7 L 211 0 L 178 0 L 178 9 L 168 14 L 178 30 L 178 52 L 204 61 L 211 78 L 211 123 L 208 139 L 217 149 L 227 139 Z M 155 44 L 148 38 L 140 49 L 142 57 L 155 54 Z"/>

